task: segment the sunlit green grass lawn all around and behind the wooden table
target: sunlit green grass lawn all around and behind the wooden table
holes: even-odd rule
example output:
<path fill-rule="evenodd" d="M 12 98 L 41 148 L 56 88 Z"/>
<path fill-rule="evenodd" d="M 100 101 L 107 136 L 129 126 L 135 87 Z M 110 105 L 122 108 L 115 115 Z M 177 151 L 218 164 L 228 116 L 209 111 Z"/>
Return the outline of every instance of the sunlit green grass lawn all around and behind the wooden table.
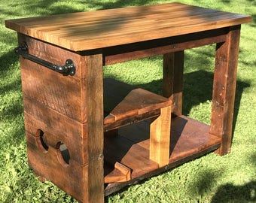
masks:
<path fill-rule="evenodd" d="M 87 3 L 90 2 L 90 3 Z M 26 162 L 23 102 L 18 57 L 13 49 L 17 35 L 5 29 L 4 20 L 172 1 L 108 0 L 0 2 L 0 202 L 76 202 L 50 182 L 41 183 Z M 177 1 L 175 1 L 177 2 Z M 127 187 L 106 198 L 108 202 L 256 202 L 256 2 L 255 0 L 184 0 L 206 8 L 250 14 L 242 25 L 236 105 L 231 153 L 209 153 L 173 170 Z M 184 114 L 210 122 L 212 71 L 215 46 L 185 52 Z M 156 56 L 104 68 L 115 77 L 159 92 L 162 57 Z"/>

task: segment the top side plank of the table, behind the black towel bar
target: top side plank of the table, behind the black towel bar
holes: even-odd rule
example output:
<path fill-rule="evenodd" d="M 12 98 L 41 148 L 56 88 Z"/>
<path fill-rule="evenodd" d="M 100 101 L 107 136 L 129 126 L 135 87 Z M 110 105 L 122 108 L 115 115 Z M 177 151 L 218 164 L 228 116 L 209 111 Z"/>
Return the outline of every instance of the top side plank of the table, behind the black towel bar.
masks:
<path fill-rule="evenodd" d="M 53 63 L 63 62 L 62 56 L 74 56 L 72 59 L 75 59 L 78 66 L 80 65 L 80 56 L 77 54 L 57 49 L 24 35 L 18 35 L 18 38 L 19 41 L 26 41 L 29 46 L 29 53 L 34 56 L 42 57 L 42 59 L 49 57 L 50 62 Z M 79 72 L 76 77 L 63 76 L 43 65 L 23 59 L 23 57 L 20 57 L 20 68 L 24 96 L 73 120 L 84 122 L 83 119 L 85 118 L 81 117 L 80 109 L 81 82 L 78 79 L 80 77 Z"/>

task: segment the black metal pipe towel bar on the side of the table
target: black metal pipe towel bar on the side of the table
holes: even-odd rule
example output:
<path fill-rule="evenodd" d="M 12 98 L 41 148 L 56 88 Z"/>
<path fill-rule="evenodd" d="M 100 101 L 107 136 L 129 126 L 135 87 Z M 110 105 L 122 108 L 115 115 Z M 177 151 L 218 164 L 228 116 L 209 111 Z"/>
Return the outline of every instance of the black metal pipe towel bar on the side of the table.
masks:
<path fill-rule="evenodd" d="M 32 56 L 29 54 L 29 47 L 26 42 L 23 42 L 19 47 L 14 49 L 14 52 L 20 54 L 25 59 L 29 59 L 32 62 L 36 62 L 40 65 L 44 65 L 47 68 L 50 68 L 53 71 L 61 73 L 63 75 L 74 75 L 75 74 L 75 64 L 72 59 L 67 59 L 65 65 L 56 65 L 51 62 L 47 62 L 44 59 L 39 59 L 36 56 Z"/>

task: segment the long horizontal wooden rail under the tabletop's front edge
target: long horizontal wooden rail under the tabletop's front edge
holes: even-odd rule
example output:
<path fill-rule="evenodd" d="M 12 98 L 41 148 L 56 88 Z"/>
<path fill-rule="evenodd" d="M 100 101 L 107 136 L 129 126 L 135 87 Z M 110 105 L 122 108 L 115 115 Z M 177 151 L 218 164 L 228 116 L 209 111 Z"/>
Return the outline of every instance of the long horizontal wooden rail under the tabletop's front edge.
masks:
<path fill-rule="evenodd" d="M 104 65 L 111 65 L 117 62 L 142 59 L 148 56 L 157 56 L 207 44 L 215 44 L 225 41 L 227 32 L 226 28 L 214 29 L 189 35 L 174 36 L 172 38 L 161 38 L 154 41 L 106 47 L 103 49 L 103 63 Z"/>

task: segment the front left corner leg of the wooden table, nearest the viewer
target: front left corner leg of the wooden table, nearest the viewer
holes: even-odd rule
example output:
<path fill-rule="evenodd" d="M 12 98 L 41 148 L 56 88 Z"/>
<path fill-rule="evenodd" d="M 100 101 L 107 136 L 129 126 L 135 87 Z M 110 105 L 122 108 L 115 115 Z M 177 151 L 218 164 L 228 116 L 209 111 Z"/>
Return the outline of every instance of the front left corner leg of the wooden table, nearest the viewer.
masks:
<path fill-rule="evenodd" d="M 85 57 L 84 202 L 104 202 L 102 54 Z M 82 177 L 81 177 L 82 178 Z"/>

